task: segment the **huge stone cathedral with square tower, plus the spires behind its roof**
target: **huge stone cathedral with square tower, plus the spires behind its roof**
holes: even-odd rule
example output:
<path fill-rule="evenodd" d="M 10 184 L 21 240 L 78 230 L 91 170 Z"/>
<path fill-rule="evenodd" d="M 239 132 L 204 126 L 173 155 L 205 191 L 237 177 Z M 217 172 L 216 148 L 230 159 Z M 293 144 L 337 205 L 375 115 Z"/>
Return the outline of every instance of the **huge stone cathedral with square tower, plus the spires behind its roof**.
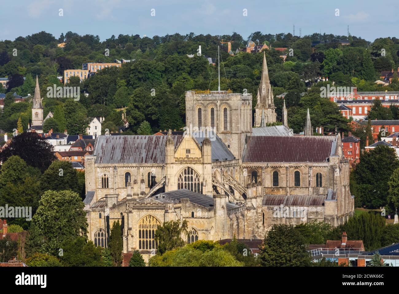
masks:
<path fill-rule="evenodd" d="M 339 134 L 305 136 L 276 122 L 266 58 L 253 123 L 252 94 L 186 92 L 186 130 L 99 136 L 85 156 L 88 238 L 107 247 L 113 222 L 123 252 L 155 254 L 163 222 L 188 222 L 187 243 L 263 239 L 274 224 L 338 226 L 354 214 Z"/>

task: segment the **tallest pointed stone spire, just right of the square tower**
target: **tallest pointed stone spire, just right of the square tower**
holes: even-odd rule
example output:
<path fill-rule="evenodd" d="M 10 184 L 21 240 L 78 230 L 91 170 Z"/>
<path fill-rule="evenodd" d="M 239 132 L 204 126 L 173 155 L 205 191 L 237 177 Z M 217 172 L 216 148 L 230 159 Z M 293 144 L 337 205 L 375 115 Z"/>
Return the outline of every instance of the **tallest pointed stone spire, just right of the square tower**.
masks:
<path fill-rule="evenodd" d="M 267 70 L 266 55 L 263 52 L 263 64 L 261 82 L 258 88 L 257 104 L 255 106 L 255 126 L 261 126 L 261 118 L 264 115 L 265 125 L 276 122 L 276 112 L 273 100 L 273 90 L 270 85 L 269 72 Z"/>

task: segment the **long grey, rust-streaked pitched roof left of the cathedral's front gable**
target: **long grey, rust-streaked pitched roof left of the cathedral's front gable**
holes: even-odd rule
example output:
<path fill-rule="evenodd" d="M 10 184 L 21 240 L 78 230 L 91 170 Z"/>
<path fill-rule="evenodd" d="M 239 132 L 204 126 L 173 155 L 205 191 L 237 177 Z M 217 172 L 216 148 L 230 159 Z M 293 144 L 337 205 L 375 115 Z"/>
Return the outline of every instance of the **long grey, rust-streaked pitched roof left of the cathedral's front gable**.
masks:
<path fill-rule="evenodd" d="M 164 163 L 168 136 L 104 136 L 97 138 L 96 163 Z M 182 136 L 172 136 L 176 145 Z"/>

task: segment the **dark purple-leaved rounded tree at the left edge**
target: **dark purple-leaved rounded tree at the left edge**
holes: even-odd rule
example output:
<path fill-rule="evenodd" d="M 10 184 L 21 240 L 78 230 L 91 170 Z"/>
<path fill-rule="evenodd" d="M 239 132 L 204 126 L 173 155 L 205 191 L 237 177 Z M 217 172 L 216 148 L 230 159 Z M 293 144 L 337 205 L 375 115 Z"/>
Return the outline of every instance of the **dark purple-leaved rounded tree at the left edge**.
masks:
<path fill-rule="evenodd" d="M 28 165 L 41 171 L 46 170 L 56 159 L 53 146 L 35 132 L 24 132 L 16 136 L 10 145 L 0 152 L 0 161 L 4 162 L 13 155 L 20 156 Z"/>

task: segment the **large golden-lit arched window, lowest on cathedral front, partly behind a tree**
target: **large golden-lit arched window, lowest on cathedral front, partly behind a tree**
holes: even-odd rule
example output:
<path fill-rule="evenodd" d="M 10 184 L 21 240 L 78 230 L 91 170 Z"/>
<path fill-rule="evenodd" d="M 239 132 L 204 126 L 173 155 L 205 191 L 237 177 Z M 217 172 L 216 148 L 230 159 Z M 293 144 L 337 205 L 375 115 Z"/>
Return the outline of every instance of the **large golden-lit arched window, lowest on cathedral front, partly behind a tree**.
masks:
<path fill-rule="evenodd" d="M 158 249 L 155 231 L 160 226 L 159 220 L 152 215 L 144 216 L 138 223 L 138 249 Z"/>

